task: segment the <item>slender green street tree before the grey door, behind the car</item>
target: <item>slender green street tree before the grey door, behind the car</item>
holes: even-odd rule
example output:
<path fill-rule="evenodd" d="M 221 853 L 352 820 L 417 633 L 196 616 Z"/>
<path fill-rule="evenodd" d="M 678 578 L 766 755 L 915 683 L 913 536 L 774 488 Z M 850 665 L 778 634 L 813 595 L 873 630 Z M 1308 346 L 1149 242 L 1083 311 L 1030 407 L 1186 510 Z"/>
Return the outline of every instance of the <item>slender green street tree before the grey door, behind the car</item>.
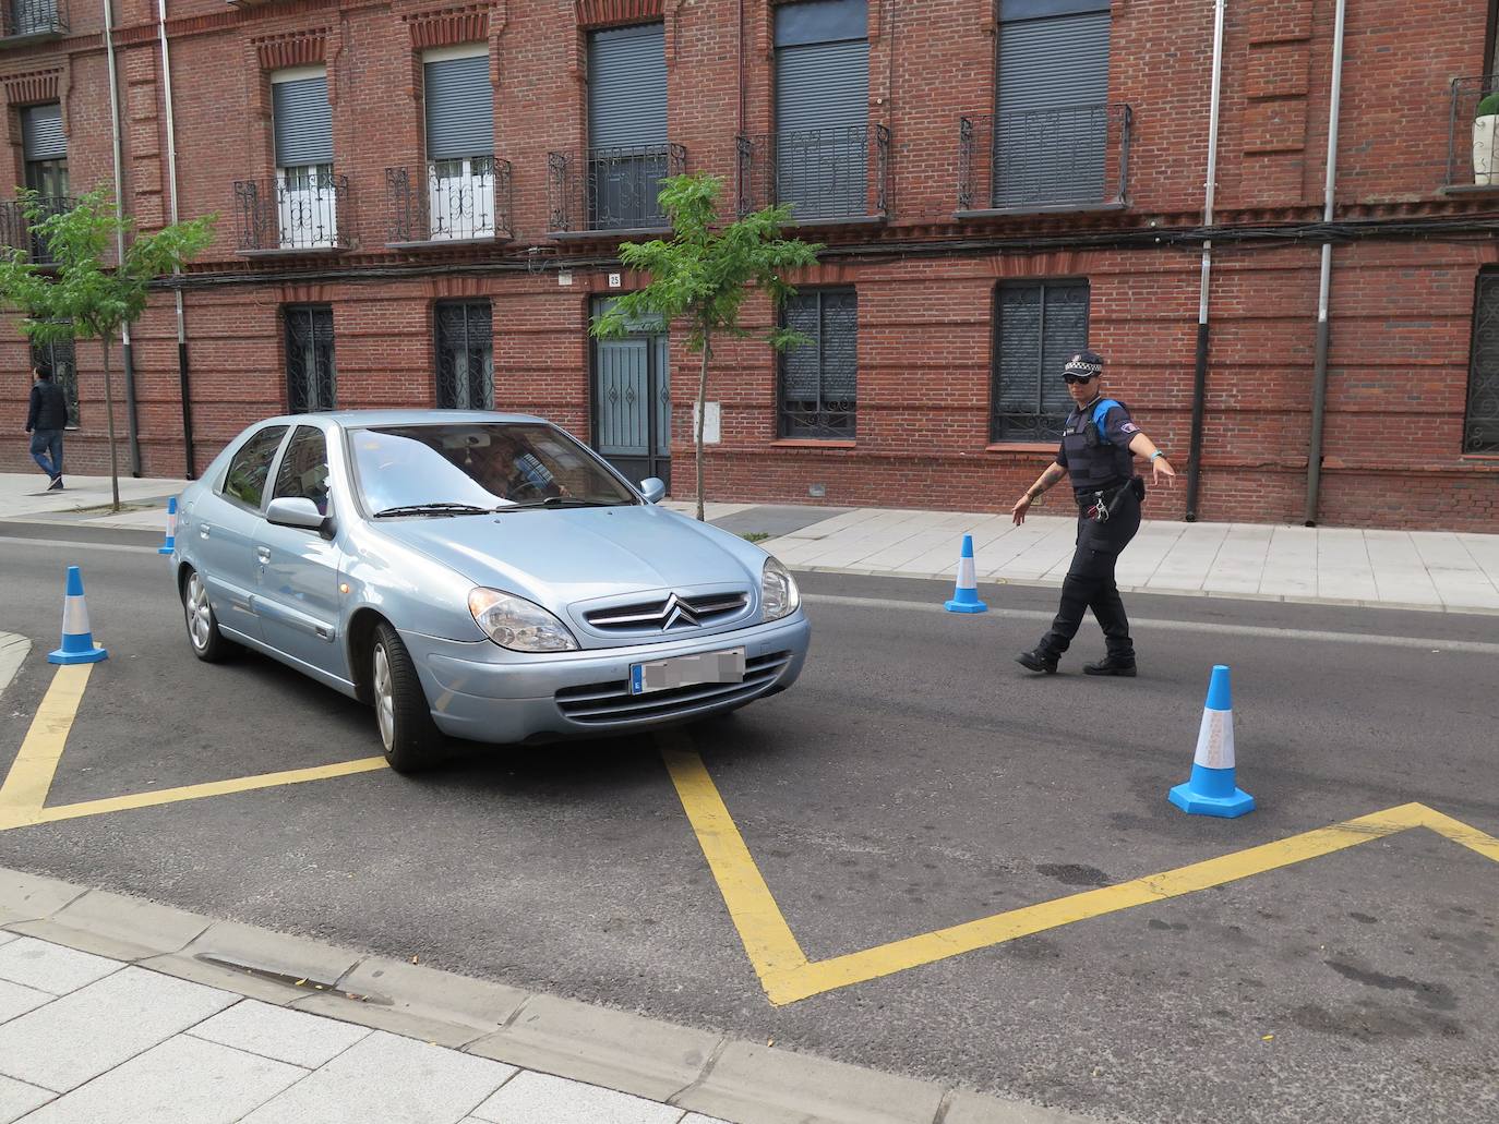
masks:
<path fill-rule="evenodd" d="M 703 357 L 693 438 L 699 519 L 703 519 L 703 418 L 714 340 L 752 336 L 739 324 L 745 298 L 755 289 L 763 291 L 770 298 L 772 313 L 778 313 L 785 298 L 796 292 L 785 282 L 785 274 L 812 265 L 823 249 L 815 243 L 781 237 L 781 228 L 791 222 L 787 204 L 723 225 L 718 219 L 723 187 L 723 178 L 705 172 L 672 175 L 661 181 L 658 199 L 672 222 L 672 237 L 619 246 L 619 259 L 628 268 L 648 274 L 651 283 L 616 300 L 591 327 L 600 339 L 618 339 L 643 318 L 660 316 L 666 324 L 685 321 L 687 348 Z M 773 322 L 779 322 L 779 316 Z M 776 351 L 809 342 L 779 327 L 764 339 Z"/>

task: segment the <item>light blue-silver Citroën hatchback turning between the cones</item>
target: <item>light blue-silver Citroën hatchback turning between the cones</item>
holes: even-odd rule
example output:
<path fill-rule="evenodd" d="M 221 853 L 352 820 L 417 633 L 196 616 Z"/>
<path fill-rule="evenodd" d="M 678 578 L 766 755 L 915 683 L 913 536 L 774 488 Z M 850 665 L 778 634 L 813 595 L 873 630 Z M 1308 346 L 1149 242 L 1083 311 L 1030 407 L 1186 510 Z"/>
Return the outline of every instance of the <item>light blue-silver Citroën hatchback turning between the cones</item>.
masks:
<path fill-rule="evenodd" d="M 811 631 L 791 574 L 663 495 L 534 417 L 270 418 L 181 493 L 187 635 L 372 703 L 403 772 L 439 731 L 618 734 L 784 691 Z"/>

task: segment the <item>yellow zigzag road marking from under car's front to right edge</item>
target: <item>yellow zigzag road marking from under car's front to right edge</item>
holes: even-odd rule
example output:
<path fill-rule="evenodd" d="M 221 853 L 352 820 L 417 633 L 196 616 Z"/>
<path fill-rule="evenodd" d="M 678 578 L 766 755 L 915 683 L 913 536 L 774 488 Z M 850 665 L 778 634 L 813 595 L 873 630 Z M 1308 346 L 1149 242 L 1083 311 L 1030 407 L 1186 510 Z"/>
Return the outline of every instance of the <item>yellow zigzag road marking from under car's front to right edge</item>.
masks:
<path fill-rule="evenodd" d="M 1217 859 L 1145 875 L 1066 898 L 1007 910 L 935 932 L 907 937 L 874 949 L 808 962 L 729 817 L 718 788 L 697 754 L 664 748 L 667 769 L 708 865 L 718 880 L 729 916 L 739 929 L 750 962 L 770 1003 L 784 1006 L 851 983 L 890 976 L 907 968 L 986 949 L 1018 937 L 1102 917 L 1136 905 L 1196 893 L 1213 886 L 1318 859 L 1324 854 L 1384 839 L 1412 827 L 1430 827 L 1454 842 L 1499 862 L 1499 839 L 1421 803 L 1406 803 L 1373 815 L 1319 827 L 1289 839 L 1250 847 Z"/>

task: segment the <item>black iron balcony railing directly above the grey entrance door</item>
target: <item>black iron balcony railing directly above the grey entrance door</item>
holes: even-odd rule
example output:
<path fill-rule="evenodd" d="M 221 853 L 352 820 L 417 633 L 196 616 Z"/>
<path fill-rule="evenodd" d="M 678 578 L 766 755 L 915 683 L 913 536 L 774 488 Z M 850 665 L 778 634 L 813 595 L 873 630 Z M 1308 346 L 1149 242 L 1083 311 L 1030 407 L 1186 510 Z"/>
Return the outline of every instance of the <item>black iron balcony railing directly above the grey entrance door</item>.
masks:
<path fill-rule="evenodd" d="M 687 171 L 687 148 L 646 144 L 547 156 L 547 199 L 555 234 L 652 231 L 670 226 L 657 202 L 661 180 Z"/>

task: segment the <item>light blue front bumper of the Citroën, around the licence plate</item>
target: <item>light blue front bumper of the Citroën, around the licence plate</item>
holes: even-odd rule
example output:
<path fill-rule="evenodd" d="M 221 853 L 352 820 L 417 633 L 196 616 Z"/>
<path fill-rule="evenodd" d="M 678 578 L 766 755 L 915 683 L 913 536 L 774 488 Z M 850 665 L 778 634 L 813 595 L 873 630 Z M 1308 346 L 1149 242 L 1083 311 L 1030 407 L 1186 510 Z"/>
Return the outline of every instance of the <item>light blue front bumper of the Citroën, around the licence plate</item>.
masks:
<path fill-rule="evenodd" d="M 477 742 L 607 737 L 733 710 L 784 691 L 802 671 L 811 625 L 800 610 L 767 625 L 661 644 L 525 655 L 490 641 L 402 632 L 438 728 Z M 630 694 L 630 665 L 745 649 L 742 683 Z"/>

